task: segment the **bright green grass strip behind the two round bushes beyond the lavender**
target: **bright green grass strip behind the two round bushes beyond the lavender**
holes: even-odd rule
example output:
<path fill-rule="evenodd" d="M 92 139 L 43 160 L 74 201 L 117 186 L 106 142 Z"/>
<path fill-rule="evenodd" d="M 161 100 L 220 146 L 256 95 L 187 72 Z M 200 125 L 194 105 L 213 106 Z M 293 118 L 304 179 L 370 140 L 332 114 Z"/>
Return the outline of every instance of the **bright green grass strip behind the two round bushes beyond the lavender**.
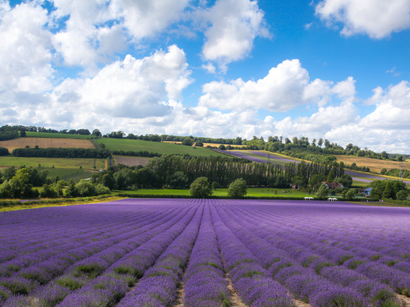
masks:
<path fill-rule="evenodd" d="M 269 190 L 269 191 L 268 191 Z M 277 194 L 275 194 L 275 190 Z M 288 193 L 283 193 L 286 191 Z M 144 189 L 144 190 L 127 190 L 127 191 L 115 191 L 115 192 L 125 192 L 130 194 L 157 194 L 157 195 L 190 195 L 189 189 Z M 292 192 L 292 193 L 290 193 Z M 227 196 L 228 189 L 217 189 L 214 191 L 215 196 Z M 300 192 L 297 190 L 292 191 L 292 189 L 272 189 L 272 188 L 248 188 L 247 196 L 288 196 L 288 197 L 306 197 L 310 196 L 315 198 L 315 194 L 307 194 L 305 192 Z"/>

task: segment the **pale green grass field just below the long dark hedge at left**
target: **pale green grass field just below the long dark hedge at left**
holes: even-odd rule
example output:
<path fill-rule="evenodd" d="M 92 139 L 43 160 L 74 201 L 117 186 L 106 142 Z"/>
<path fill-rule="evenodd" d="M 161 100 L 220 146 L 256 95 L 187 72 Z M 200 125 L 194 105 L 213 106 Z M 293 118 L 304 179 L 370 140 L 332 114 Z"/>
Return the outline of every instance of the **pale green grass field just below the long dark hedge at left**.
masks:
<path fill-rule="evenodd" d="M 57 168 L 83 168 L 93 169 L 94 163 L 96 169 L 105 168 L 105 159 L 76 159 L 76 158 L 24 158 L 24 157 L 0 157 L 0 166 L 32 166 L 37 167 L 41 164 L 45 167 Z"/>

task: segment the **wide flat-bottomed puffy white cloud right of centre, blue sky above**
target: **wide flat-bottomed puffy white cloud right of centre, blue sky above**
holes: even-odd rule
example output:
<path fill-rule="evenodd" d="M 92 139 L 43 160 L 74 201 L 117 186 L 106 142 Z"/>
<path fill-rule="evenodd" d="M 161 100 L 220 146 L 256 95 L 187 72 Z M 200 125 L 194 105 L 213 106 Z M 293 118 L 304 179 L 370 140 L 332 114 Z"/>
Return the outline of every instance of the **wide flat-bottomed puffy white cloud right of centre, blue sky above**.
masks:
<path fill-rule="evenodd" d="M 285 112 L 312 102 L 323 106 L 332 95 L 343 99 L 356 93 L 353 77 L 333 84 L 320 79 L 310 82 L 308 71 L 302 68 L 298 59 L 284 60 L 256 82 L 239 78 L 230 83 L 212 81 L 204 84 L 198 104 L 238 112 L 248 108 Z"/>

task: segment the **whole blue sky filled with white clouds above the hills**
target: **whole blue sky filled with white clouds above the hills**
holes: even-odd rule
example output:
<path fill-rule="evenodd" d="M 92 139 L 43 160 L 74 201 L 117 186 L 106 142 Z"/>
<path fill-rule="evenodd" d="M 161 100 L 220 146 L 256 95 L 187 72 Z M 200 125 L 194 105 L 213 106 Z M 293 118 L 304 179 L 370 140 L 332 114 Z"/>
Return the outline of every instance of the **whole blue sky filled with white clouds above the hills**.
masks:
<path fill-rule="evenodd" d="M 0 0 L 0 124 L 410 153 L 410 0 Z"/>

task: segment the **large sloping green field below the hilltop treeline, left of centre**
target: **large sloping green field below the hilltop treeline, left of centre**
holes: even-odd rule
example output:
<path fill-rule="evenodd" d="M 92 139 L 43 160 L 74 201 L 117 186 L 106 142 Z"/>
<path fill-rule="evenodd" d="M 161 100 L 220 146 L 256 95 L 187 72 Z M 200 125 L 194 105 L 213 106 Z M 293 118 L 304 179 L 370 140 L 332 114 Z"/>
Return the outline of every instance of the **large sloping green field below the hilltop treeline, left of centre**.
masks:
<path fill-rule="evenodd" d="M 194 147 L 177 145 L 171 143 L 162 143 L 162 142 L 151 142 L 151 141 L 142 141 L 142 140 L 127 140 L 127 139 L 108 139 L 100 138 L 95 140 L 98 144 L 103 143 L 106 145 L 108 150 L 124 150 L 124 151 L 141 151 L 147 150 L 149 152 L 158 152 L 158 153 L 180 153 L 185 155 L 188 153 L 191 156 L 220 156 L 222 153 L 211 151 L 202 147 Z"/>

